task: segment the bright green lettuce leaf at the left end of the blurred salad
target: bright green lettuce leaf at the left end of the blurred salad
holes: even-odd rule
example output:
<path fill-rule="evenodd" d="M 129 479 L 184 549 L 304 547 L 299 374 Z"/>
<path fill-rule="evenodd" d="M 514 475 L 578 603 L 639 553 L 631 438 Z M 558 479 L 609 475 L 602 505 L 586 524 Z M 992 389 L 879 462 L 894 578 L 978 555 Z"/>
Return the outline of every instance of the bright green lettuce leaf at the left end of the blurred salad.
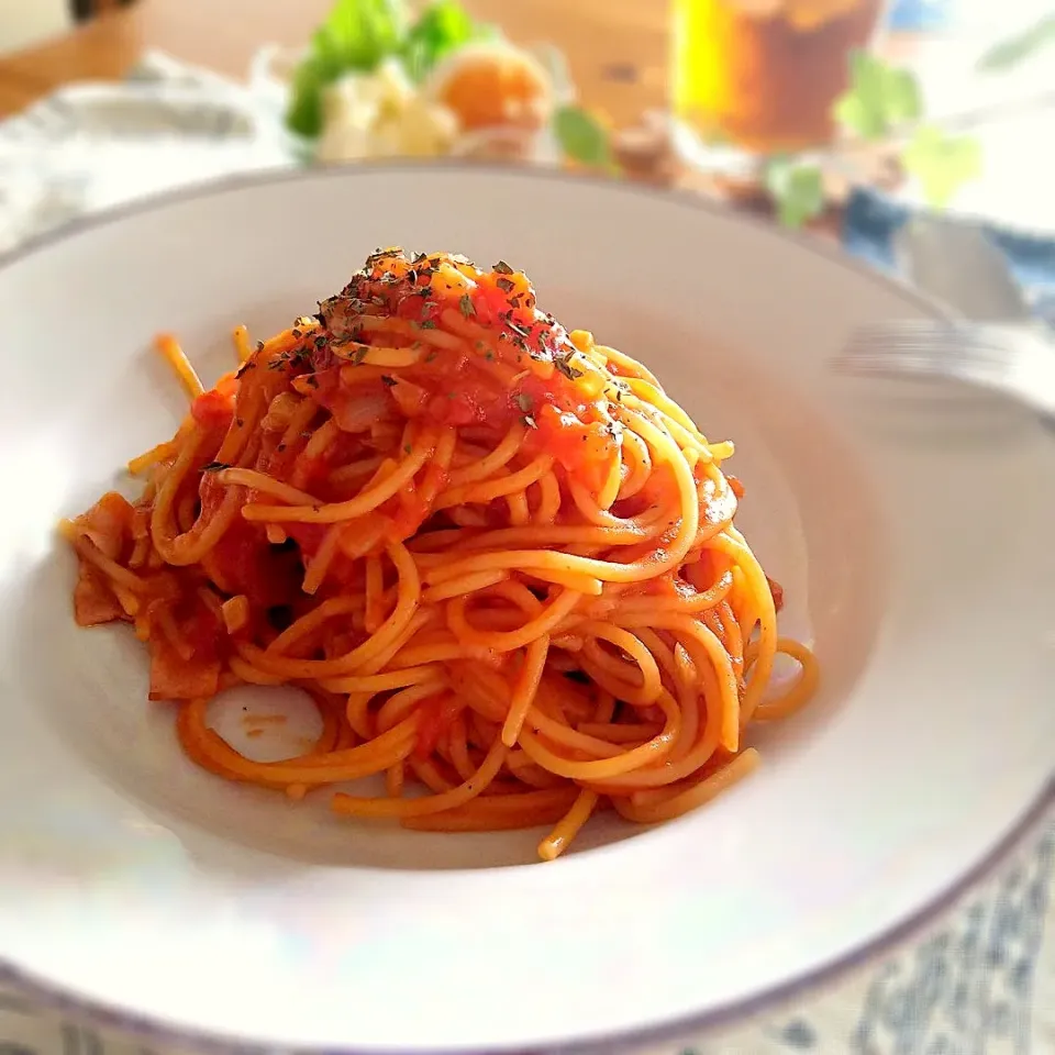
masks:
<path fill-rule="evenodd" d="M 299 135 L 319 135 L 326 86 L 344 74 L 374 69 L 396 54 L 406 38 L 403 0 L 337 0 L 293 74 L 287 126 Z"/>

